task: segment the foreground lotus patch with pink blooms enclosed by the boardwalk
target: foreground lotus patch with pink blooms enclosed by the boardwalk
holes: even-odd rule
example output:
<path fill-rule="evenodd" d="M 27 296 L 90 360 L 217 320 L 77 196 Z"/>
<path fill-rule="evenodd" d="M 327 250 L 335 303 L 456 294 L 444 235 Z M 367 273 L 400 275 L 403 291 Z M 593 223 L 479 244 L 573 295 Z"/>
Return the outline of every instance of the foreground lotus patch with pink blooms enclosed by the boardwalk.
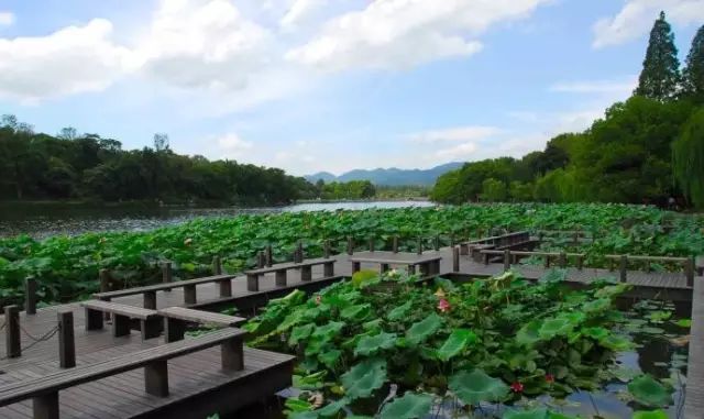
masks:
<path fill-rule="evenodd" d="M 272 300 L 249 345 L 296 354 L 289 418 L 678 418 L 689 319 L 609 279 L 419 285 L 358 273 Z M 626 306 L 626 307 L 624 307 Z"/>

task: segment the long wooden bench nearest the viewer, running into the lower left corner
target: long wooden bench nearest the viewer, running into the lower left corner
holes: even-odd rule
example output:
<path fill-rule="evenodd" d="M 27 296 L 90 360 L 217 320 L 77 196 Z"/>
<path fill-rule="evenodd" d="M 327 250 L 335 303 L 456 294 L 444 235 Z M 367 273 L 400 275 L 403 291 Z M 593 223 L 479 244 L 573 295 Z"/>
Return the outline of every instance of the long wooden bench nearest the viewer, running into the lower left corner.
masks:
<path fill-rule="evenodd" d="M 0 387 L 0 407 L 32 399 L 34 419 L 58 419 L 58 392 L 140 367 L 144 367 L 145 392 L 152 396 L 166 397 L 168 360 L 221 345 L 222 368 L 242 371 L 242 341 L 245 334 L 245 331 L 239 329 L 218 330 L 196 339 L 167 343 L 108 361 L 12 383 Z"/>

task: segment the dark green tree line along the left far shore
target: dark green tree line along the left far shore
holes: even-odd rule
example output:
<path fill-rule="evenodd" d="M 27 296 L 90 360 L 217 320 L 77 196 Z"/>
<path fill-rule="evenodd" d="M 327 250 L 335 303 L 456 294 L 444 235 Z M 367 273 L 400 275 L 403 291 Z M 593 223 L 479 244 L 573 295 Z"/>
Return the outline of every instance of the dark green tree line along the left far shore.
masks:
<path fill-rule="evenodd" d="M 207 200 L 284 203 L 315 197 L 304 178 L 277 168 L 183 156 L 155 135 L 154 147 L 64 129 L 36 134 L 12 115 L 0 122 L 0 199 Z"/>

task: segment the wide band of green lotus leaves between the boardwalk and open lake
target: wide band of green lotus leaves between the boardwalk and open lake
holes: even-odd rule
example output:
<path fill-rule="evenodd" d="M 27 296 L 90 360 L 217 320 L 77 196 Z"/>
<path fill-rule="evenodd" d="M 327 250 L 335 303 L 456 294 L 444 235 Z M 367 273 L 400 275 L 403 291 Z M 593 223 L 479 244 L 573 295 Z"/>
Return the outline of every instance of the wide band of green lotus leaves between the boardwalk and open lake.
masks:
<path fill-rule="evenodd" d="M 108 268 L 123 285 L 158 279 L 160 262 L 174 263 L 176 277 L 211 272 L 210 262 L 220 255 L 226 269 L 239 272 L 254 263 L 256 252 L 271 244 L 276 261 L 290 260 L 297 240 L 308 255 L 320 255 L 329 239 L 343 252 L 348 236 L 366 246 L 376 238 L 376 249 L 391 247 L 399 235 L 402 250 L 415 251 L 416 239 L 449 234 L 457 239 L 476 236 L 492 229 L 575 230 L 592 232 L 596 240 L 580 251 L 587 265 L 604 263 L 609 253 L 651 255 L 704 254 L 700 219 L 674 217 L 654 208 L 620 205 L 493 205 L 441 208 L 372 209 L 364 211 L 250 214 L 227 219 L 201 219 L 177 227 L 146 232 L 89 233 L 52 236 L 42 241 L 29 236 L 0 240 L 0 297 L 7 301 L 22 296 L 25 277 L 42 285 L 43 300 L 74 299 L 95 291 L 98 271 Z M 671 230 L 670 230 L 671 228 Z M 552 246 L 569 244 L 553 243 Z"/>

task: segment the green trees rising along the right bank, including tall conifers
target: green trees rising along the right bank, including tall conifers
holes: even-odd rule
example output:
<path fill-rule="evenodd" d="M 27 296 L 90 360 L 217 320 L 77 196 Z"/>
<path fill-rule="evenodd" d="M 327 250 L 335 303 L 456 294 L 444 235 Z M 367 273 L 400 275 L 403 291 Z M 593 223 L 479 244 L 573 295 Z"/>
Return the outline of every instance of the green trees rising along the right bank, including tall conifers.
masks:
<path fill-rule="evenodd" d="M 466 163 L 436 183 L 440 202 L 603 201 L 704 207 L 704 26 L 681 69 L 663 12 L 638 86 L 582 133 L 522 158 Z"/>

